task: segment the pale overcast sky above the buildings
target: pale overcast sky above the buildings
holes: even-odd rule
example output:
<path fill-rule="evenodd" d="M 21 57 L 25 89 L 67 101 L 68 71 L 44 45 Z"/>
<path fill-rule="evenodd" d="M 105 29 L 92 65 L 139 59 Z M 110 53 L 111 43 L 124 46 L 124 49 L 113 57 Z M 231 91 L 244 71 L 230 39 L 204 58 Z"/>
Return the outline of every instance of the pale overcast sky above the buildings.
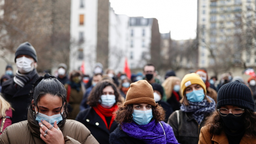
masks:
<path fill-rule="evenodd" d="M 197 0 L 110 0 L 116 14 L 157 18 L 160 33 L 175 40 L 196 37 Z"/>

